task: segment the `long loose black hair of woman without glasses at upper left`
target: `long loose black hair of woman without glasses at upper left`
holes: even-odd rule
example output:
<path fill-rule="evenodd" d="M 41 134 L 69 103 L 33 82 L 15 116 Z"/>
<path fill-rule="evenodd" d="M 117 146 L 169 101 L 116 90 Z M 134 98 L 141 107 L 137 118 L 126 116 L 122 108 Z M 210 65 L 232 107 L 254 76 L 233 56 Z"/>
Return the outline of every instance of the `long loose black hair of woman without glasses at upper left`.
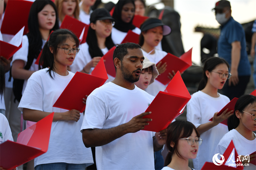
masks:
<path fill-rule="evenodd" d="M 28 18 L 29 33 L 27 34 L 30 40 L 29 53 L 30 55 L 34 56 L 34 58 L 38 57 L 43 45 L 41 33 L 39 31 L 38 13 L 42 11 L 42 9 L 48 4 L 54 8 L 56 13 L 56 21 L 55 21 L 54 27 L 49 31 L 49 33 L 53 30 L 59 29 L 59 20 L 58 20 L 59 17 L 58 17 L 58 12 L 55 4 L 51 0 L 34 1 L 29 11 L 29 18 Z"/>

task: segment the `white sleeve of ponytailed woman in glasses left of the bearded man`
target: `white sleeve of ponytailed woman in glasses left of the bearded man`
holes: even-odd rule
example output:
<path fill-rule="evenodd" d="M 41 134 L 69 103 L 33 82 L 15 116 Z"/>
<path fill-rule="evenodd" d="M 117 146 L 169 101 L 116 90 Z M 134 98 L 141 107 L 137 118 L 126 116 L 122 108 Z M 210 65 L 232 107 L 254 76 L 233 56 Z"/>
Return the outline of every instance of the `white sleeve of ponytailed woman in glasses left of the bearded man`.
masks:
<path fill-rule="evenodd" d="M 43 87 L 38 83 L 39 81 L 33 79 L 33 74 L 27 82 L 18 106 L 21 111 L 23 108 L 43 111 Z"/>

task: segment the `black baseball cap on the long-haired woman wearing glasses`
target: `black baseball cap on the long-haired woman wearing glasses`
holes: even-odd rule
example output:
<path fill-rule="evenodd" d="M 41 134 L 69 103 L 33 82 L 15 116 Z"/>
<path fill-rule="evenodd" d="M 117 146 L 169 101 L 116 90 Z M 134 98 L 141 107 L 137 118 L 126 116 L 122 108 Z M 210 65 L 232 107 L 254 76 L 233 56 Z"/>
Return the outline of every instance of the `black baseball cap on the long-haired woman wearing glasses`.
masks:
<path fill-rule="evenodd" d="M 96 20 L 115 21 L 115 19 L 111 17 L 110 13 L 105 8 L 98 8 L 93 10 L 90 16 L 90 23 L 94 23 Z"/>

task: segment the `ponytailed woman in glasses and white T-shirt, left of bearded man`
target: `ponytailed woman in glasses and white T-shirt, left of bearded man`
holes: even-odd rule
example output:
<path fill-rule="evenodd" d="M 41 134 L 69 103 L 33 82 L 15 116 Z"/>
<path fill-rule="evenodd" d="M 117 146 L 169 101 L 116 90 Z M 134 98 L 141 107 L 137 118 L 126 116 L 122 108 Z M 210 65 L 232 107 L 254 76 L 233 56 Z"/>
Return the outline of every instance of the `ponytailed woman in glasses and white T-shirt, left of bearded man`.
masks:
<path fill-rule="evenodd" d="M 35 169 L 85 169 L 93 163 L 92 152 L 81 140 L 83 114 L 53 107 L 74 73 L 67 70 L 79 52 L 79 40 L 71 31 L 51 33 L 43 47 L 39 66 L 27 83 L 18 109 L 24 120 L 38 122 L 54 112 L 48 151 L 35 158 Z M 86 96 L 85 96 L 86 97 Z M 81 103 L 86 99 L 81 98 Z"/>

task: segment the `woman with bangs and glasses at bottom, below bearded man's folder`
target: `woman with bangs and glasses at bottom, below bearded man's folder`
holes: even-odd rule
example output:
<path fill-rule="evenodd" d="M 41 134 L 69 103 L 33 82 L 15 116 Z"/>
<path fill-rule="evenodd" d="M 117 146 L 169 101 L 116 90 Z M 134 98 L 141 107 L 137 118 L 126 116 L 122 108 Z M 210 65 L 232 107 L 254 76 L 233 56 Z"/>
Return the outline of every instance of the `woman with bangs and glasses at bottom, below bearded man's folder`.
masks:
<path fill-rule="evenodd" d="M 196 127 L 188 121 L 177 120 L 168 126 L 168 154 L 162 170 L 190 169 L 188 159 L 195 159 L 202 139 Z M 201 148 L 200 148 L 201 149 Z"/>

